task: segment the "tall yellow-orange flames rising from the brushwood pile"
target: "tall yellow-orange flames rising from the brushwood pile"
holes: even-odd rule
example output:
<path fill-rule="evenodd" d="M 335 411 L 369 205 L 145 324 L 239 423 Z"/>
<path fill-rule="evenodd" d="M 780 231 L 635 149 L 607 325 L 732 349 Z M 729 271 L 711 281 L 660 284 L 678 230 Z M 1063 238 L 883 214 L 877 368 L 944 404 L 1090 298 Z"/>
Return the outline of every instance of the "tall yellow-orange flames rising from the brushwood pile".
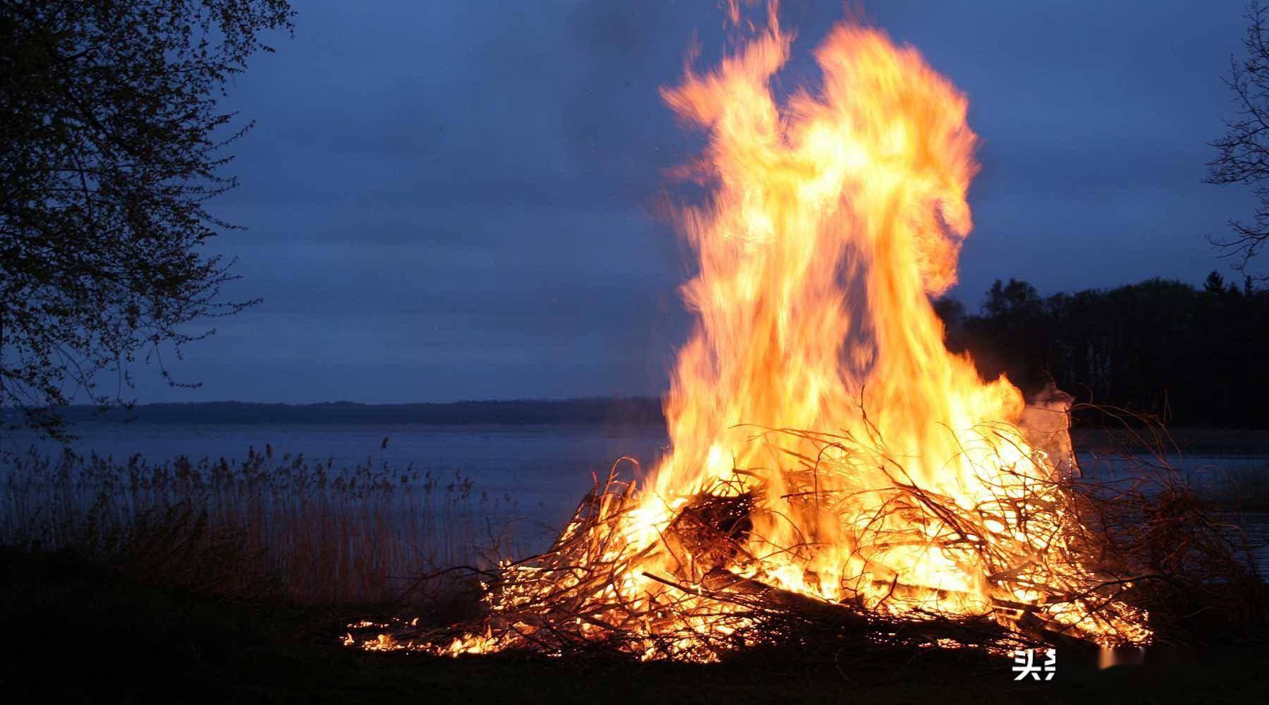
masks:
<path fill-rule="evenodd" d="M 827 468 L 821 493 L 890 486 L 902 472 L 967 508 L 996 492 L 982 487 L 985 463 L 1032 462 L 1020 437 L 1005 458 L 1000 444 L 982 443 L 983 424 L 1020 420 L 1022 394 L 1004 378 L 981 382 L 967 358 L 947 351 L 929 298 L 956 281 L 971 228 L 977 137 L 964 95 L 915 49 L 839 27 L 816 52 L 819 94 L 779 105 L 770 80 L 789 41 L 773 25 L 718 71 L 665 91 L 680 117 L 709 131 L 703 169 L 717 186 L 683 218 L 700 261 L 684 294 L 700 320 L 666 404 L 674 451 L 646 502 L 669 519 L 740 468 L 750 473 L 744 486 L 761 484 L 774 505 L 755 536 L 773 549 L 822 547 L 810 564 L 775 571 L 784 587 L 806 590 L 805 572 L 888 568 L 876 578 L 982 597 L 977 576 L 935 547 L 860 555 L 838 516 L 782 500 L 798 491 L 765 469 L 782 459 L 747 441 L 755 427 L 884 439 L 883 453 L 865 456 L 825 455 L 813 440 L 784 450 Z M 878 503 L 862 496 L 851 514 L 864 520 Z"/>

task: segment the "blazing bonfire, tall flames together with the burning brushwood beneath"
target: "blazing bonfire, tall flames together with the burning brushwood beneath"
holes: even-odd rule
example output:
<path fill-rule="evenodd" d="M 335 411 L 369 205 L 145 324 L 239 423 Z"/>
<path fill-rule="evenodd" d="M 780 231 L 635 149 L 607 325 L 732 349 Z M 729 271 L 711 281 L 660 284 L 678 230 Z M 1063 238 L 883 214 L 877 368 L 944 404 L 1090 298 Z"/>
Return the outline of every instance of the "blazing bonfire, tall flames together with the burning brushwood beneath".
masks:
<path fill-rule="evenodd" d="M 709 661 L 806 630 L 1150 640 L 1072 489 L 1067 398 L 1028 406 L 944 347 L 930 301 L 971 230 L 966 96 L 843 25 L 816 51 L 821 85 L 779 101 L 791 42 L 772 6 L 718 68 L 664 91 L 709 136 L 681 172 L 711 195 L 681 212 L 698 322 L 666 401 L 673 450 L 503 564 L 478 623 L 365 624 L 349 643 Z"/>

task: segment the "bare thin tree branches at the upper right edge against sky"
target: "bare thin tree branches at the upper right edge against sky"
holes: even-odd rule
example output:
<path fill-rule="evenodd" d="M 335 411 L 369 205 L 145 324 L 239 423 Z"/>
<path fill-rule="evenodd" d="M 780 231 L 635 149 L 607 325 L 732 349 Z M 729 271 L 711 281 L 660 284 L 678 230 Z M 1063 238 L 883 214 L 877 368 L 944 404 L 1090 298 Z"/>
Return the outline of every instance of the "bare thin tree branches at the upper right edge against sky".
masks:
<path fill-rule="evenodd" d="M 1212 142 L 1217 156 L 1208 162 L 1206 179 L 1209 184 L 1250 185 L 1260 202 L 1251 221 L 1230 221 L 1233 235 L 1212 241 L 1236 260 L 1237 270 L 1245 270 L 1269 242 L 1269 15 L 1259 0 L 1253 0 L 1245 14 L 1246 56 L 1230 58 L 1230 76 L 1225 80 L 1233 94 L 1235 112 L 1225 122 L 1225 134 Z"/>

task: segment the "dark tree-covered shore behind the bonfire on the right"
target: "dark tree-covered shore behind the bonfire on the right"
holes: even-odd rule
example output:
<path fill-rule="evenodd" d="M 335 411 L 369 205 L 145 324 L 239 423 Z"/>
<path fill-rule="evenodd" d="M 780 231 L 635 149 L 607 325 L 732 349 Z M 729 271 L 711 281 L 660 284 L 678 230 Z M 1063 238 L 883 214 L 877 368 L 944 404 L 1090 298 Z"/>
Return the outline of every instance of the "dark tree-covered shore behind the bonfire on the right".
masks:
<path fill-rule="evenodd" d="M 948 347 L 1027 393 L 1053 382 L 1174 426 L 1269 427 L 1269 290 L 1250 279 L 1213 271 L 1200 289 L 1150 279 L 1047 298 L 996 280 L 977 313 L 949 298 L 935 308 Z"/>

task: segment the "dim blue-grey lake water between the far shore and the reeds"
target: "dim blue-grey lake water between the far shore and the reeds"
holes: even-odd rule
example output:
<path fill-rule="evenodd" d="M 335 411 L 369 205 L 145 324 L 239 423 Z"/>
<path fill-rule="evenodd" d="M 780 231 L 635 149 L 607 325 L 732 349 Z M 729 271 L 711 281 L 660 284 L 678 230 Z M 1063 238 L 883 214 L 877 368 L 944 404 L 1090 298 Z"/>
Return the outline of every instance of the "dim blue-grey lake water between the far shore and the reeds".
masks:
<path fill-rule="evenodd" d="M 491 497 L 510 496 L 509 516 L 522 522 L 519 535 L 529 544 L 544 545 L 567 520 L 594 478 L 607 475 L 617 458 L 637 459 L 652 467 L 669 440 L 660 426 L 610 429 L 598 426 L 345 426 L 345 425 L 141 425 L 85 424 L 72 448 L 123 462 L 140 454 L 152 463 L 179 455 L 190 459 L 226 458 L 242 460 L 250 448 L 274 454 L 299 454 L 311 462 L 330 462 L 335 468 L 369 460 L 374 467 L 414 465 L 416 470 L 445 478 L 459 473 L 477 492 Z M 381 448 L 387 437 L 387 448 Z M 10 434 L 5 450 L 22 450 L 32 439 Z M 47 445 L 49 450 L 56 446 Z M 1266 455 L 1200 454 L 1169 456 L 1195 483 L 1220 482 L 1225 473 L 1266 473 Z M 1081 454 L 1088 473 L 1119 474 L 1114 462 Z M 623 468 L 631 475 L 631 468 Z M 1249 512 L 1239 517 L 1259 544 L 1258 563 L 1269 569 L 1269 514 Z"/>

